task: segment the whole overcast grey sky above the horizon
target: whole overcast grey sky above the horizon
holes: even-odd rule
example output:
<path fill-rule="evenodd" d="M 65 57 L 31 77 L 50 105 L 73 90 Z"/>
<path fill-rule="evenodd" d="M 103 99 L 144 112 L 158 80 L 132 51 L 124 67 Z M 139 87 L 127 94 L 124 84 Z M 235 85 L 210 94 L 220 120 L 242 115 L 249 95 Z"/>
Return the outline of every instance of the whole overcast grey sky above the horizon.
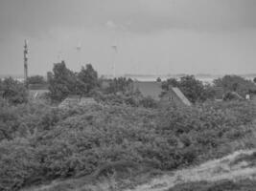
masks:
<path fill-rule="evenodd" d="M 29 74 L 256 73 L 256 0 L 0 0 L 0 74 L 23 74 L 24 39 Z"/>

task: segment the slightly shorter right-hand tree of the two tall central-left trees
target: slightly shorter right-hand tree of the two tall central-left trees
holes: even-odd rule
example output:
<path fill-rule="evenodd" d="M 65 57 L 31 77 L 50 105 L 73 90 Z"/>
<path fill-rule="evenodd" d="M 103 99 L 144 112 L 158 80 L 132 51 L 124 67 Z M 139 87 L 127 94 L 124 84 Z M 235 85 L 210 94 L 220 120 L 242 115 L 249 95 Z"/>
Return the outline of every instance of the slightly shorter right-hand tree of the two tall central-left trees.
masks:
<path fill-rule="evenodd" d="M 92 90 L 99 87 L 98 73 L 91 64 L 86 64 L 86 68 L 81 67 L 78 74 L 78 87 L 81 95 L 88 95 Z"/>

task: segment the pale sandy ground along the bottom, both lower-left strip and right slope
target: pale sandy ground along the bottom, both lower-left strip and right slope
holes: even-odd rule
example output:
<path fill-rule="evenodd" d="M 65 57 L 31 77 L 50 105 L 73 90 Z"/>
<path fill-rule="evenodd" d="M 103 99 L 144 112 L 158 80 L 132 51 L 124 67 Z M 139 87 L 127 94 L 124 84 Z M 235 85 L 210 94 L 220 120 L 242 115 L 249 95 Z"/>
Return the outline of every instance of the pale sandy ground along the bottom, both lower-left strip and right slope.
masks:
<path fill-rule="evenodd" d="M 170 172 L 169 174 L 163 175 L 161 177 L 155 178 L 148 183 L 138 185 L 133 189 L 126 189 L 125 191 L 166 191 L 168 188 L 174 187 L 175 184 L 182 182 L 193 182 L 198 180 L 207 180 L 207 181 L 217 181 L 217 180 L 243 180 L 243 179 L 255 179 L 256 180 L 256 155 L 255 164 L 248 163 L 248 160 L 245 161 L 246 156 L 252 156 L 256 152 L 254 150 L 241 150 L 237 151 L 231 155 L 228 155 L 221 159 L 209 160 L 201 165 L 177 170 Z M 239 162 L 234 163 L 235 159 L 243 158 Z M 75 180 L 65 180 L 65 181 L 54 181 L 49 185 L 41 185 L 39 187 L 22 189 L 23 191 L 53 191 L 56 190 L 56 186 L 61 190 L 60 187 L 68 187 L 68 183 L 75 184 L 76 188 L 67 189 L 67 190 L 92 190 L 92 191 L 120 191 L 118 187 L 115 187 L 115 181 L 111 182 L 107 180 L 101 182 L 97 185 L 90 185 L 87 183 L 82 183 L 81 180 L 79 184 Z"/>

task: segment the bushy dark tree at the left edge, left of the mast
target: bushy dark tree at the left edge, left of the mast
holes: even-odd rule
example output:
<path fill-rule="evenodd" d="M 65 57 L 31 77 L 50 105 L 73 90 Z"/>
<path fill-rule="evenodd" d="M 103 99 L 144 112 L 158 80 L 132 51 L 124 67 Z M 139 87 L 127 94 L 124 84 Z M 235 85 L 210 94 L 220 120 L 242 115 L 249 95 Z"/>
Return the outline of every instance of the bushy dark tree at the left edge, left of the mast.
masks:
<path fill-rule="evenodd" d="M 1 96 L 12 104 L 20 104 L 28 102 L 28 91 L 25 85 L 12 77 L 5 78 L 0 81 Z"/>

